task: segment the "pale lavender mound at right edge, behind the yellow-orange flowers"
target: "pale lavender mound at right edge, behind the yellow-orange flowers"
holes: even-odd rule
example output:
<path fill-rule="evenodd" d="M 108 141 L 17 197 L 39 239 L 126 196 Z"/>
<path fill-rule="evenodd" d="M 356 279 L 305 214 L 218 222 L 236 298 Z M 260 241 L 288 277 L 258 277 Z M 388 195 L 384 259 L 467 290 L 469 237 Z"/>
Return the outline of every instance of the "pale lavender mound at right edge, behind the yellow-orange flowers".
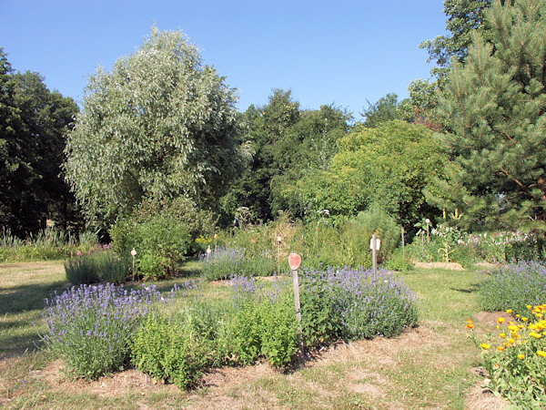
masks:
<path fill-rule="evenodd" d="M 480 282 L 480 304 L 489 312 L 513 309 L 524 314 L 527 305 L 546 300 L 546 266 L 520 261 L 502 266 Z"/>

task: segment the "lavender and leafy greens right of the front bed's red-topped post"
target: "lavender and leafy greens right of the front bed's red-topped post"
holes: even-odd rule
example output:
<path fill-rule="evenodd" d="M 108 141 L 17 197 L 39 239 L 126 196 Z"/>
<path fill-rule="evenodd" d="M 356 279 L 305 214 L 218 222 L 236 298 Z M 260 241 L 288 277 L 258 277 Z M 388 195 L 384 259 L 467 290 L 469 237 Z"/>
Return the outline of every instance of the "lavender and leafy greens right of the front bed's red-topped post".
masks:
<path fill-rule="evenodd" d="M 302 320 L 311 344 L 392 337 L 417 323 L 414 294 L 389 272 L 378 272 L 377 280 L 371 271 L 353 268 L 307 270 L 302 276 Z"/>

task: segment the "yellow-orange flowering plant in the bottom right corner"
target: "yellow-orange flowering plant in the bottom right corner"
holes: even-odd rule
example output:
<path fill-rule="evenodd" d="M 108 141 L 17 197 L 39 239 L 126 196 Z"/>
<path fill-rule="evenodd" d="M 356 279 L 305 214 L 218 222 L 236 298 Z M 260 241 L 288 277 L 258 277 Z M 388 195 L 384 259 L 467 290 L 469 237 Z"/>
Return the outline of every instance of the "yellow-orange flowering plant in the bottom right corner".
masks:
<path fill-rule="evenodd" d="M 493 393 L 513 405 L 539 408 L 546 406 L 546 304 L 528 306 L 528 311 L 526 321 L 500 317 L 485 342 L 476 337 L 470 318 L 467 328 L 480 348 Z"/>

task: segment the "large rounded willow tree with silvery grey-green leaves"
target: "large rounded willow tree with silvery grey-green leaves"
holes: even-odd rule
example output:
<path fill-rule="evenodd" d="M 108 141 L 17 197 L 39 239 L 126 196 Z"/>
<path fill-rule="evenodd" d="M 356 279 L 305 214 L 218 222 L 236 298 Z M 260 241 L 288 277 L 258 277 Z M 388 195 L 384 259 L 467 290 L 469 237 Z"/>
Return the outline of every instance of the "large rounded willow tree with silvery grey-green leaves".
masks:
<path fill-rule="evenodd" d="M 66 179 L 86 220 L 106 228 L 145 197 L 210 208 L 237 173 L 236 91 L 181 31 L 151 35 L 89 78 L 66 143 Z"/>

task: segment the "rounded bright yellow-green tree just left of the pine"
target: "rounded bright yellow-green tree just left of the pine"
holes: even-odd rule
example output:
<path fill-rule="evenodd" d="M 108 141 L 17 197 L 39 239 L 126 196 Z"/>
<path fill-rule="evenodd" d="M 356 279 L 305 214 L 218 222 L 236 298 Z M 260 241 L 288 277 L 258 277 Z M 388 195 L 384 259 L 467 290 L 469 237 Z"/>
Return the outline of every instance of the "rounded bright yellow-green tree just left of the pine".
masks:
<path fill-rule="evenodd" d="M 446 160 L 429 129 L 388 121 L 341 138 L 329 169 L 300 179 L 294 193 L 310 218 L 319 210 L 329 210 L 332 217 L 356 215 L 378 204 L 410 227 L 440 212 L 422 190 Z"/>

